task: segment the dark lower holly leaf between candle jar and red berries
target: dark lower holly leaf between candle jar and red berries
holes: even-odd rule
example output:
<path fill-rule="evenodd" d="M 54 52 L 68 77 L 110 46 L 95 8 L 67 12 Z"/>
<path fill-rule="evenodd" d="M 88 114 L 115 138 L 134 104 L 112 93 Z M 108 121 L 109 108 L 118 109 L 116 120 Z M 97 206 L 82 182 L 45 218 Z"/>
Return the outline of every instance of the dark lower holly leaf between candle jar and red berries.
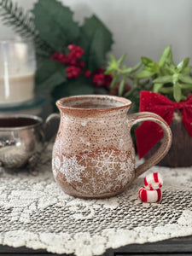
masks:
<path fill-rule="evenodd" d="M 66 81 L 65 67 L 58 62 L 45 60 L 36 72 L 37 89 L 52 89 Z"/>

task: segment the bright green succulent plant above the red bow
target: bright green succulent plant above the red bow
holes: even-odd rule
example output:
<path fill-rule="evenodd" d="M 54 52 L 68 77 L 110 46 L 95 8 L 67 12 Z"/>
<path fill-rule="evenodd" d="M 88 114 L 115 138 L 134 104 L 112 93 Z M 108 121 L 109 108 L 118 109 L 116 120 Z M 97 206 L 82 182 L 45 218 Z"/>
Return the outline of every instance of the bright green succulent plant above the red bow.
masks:
<path fill-rule="evenodd" d="M 174 64 L 172 61 L 172 48 L 167 46 L 160 56 L 160 61 L 156 62 L 148 57 L 141 57 L 141 62 L 135 67 L 126 67 L 122 65 L 125 60 L 123 55 L 118 61 L 111 56 L 108 62 L 107 73 L 113 74 L 111 87 L 119 83 L 119 96 L 122 96 L 125 86 L 125 80 L 132 80 L 132 89 L 125 93 L 125 97 L 131 96 L 136 90 L 152 90 L 163 94 L 180 102 L 186 100 L 189 93 L 192 93 L 192 78 L 190 76 L 191 68 L 189 58 Z"/>

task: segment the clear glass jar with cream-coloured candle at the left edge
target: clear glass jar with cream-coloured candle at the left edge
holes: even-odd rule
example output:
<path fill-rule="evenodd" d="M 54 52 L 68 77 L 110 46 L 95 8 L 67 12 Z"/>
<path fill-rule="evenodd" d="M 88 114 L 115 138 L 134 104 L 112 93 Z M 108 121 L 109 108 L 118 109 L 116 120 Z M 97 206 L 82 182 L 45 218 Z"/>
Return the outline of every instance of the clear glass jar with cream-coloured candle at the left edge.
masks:
<path fill-rule="evenodd" d="M 0 41 L 0 61 L 0 105 L 32 100 L 36 67 L 32 44 Z"/>

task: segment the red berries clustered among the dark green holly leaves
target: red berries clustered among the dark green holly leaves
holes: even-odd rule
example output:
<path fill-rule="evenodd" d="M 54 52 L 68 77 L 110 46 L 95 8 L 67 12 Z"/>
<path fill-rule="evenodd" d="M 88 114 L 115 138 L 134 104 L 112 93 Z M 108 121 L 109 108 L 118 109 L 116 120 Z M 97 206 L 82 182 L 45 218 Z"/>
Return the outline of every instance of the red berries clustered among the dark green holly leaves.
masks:
<path fill-rule="evenodd" d="M 105 75 L 103 68 L 99 68 L 96 73 L 82 70 L 84 68 L 84 61 L 79 61 L 79 58 L 84 54 L 84 49 L 75 44 L 69 44 L 67 49 L 69 50 L 67 55 L 55 52 L 51 59 L 68 65 L 66 68 L 68 79 L 77 79 L 80 73 L 83 72 L 85 77 L 92 79 L 96 87 L 109 86 L 111 84 L 112 76 L 110 74 Z"/>

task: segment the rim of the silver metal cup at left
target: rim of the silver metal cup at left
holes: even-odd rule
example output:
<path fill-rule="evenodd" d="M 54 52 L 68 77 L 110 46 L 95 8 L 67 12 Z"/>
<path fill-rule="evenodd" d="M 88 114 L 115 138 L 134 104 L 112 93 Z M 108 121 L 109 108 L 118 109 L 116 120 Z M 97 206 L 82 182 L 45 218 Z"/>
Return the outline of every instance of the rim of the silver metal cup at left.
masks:
<path fill-rule="evenodd" d="M 8 116 L 0 116 L 0 119 L 19 119 L 19 118 L 24 118 L 24 119 L 33 119 L 36 120 L 37 122 L 33 125 L 22 125 L 22 126 L 13 126 L 13 127 L 1 127 L 0 126 L 0 131 L 17 131 L 17 130 L 22 130 L 22 129 L 28 129 L 32 127 L 37 127 L 38 125 L 43 124 L 43 119 L 37 115 L 32 115 L 32 114 L 10 114 Z"/>

